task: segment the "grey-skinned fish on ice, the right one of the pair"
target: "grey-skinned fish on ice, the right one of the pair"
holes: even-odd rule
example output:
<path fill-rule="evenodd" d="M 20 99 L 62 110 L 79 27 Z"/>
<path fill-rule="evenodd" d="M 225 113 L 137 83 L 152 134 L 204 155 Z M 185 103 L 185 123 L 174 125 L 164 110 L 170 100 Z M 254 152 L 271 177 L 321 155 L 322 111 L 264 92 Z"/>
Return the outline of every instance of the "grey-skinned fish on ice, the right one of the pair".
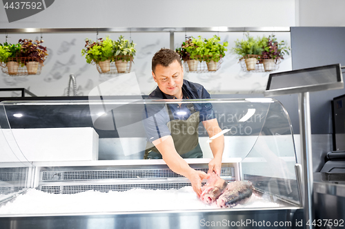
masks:
<path fill-rule="evenodd" d="M 219 208 L 232 208 L 237 204 L 244 204 L 252 194 L 253 185 L 251 182 L 230 182 L 217 199 L 217 206 Z"/>

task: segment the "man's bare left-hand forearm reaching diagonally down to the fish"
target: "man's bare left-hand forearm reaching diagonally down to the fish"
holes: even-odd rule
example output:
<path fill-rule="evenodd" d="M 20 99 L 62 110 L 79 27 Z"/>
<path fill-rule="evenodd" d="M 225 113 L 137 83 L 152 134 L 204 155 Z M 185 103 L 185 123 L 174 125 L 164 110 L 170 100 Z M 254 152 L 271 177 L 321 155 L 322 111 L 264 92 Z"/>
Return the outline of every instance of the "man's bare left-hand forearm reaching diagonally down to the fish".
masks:
<path fill-rule="evenodd" d="M 177 153 L 171 135 L 159 138 L 152 143 L 159 150 L 164 162 L 166 162 L 172 171 L 190 180 L 193 190 L 197 193 L 197 197 L 199 197 L 201 194 L 201 181 L 203 179 L 208 179 L 210 175 L 190 168 L 188 163 Z"/>

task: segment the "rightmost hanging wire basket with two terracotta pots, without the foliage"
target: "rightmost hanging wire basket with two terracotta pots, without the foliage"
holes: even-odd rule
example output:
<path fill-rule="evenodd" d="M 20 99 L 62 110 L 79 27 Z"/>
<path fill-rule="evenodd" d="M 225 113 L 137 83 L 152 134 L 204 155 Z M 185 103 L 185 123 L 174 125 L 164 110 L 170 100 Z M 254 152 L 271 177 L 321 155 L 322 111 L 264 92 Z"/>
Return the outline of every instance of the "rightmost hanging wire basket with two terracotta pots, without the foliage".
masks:
<path fill-rule="evenodd" d="M 250 62 L 253 65 L 250 65 Z M 279 69 L 280 63 L 280 58 L 272 59 L 266 55 L 246 55 L 239 59 L 243 72 L 273 72 Z"/>

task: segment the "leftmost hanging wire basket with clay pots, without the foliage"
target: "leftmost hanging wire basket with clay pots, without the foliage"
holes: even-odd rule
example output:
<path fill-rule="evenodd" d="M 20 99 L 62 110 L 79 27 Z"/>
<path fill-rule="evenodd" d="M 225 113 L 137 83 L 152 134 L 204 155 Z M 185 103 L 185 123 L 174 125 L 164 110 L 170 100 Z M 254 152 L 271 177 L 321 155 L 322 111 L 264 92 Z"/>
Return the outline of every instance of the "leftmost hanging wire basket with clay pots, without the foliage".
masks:
<path fill-rule="evenodd" d="M 39 75 L 42 66 L 36 57 L 8 58 L 6 63 L 0 63 L 1 71 L 10 76 Z"/>

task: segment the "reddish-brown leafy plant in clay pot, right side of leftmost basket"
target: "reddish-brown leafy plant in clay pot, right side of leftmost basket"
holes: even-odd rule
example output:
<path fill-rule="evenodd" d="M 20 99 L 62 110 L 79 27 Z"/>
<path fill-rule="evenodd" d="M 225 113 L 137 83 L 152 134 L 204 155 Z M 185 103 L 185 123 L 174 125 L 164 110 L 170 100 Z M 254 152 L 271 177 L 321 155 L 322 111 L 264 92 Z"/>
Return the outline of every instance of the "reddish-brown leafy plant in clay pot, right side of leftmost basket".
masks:
<path fill-rule="evenodd" d="M 21 45 L 21 52 L 19 57 L 23 58 L 23 63 L 28 69 L 28 74 L 37 74 L 39 63 L 43 65 L 43 62 L 48 56 L 47 48 L 41 45 L 43 41 L 32 41 L 30 39 L 19 39 Z"/>

